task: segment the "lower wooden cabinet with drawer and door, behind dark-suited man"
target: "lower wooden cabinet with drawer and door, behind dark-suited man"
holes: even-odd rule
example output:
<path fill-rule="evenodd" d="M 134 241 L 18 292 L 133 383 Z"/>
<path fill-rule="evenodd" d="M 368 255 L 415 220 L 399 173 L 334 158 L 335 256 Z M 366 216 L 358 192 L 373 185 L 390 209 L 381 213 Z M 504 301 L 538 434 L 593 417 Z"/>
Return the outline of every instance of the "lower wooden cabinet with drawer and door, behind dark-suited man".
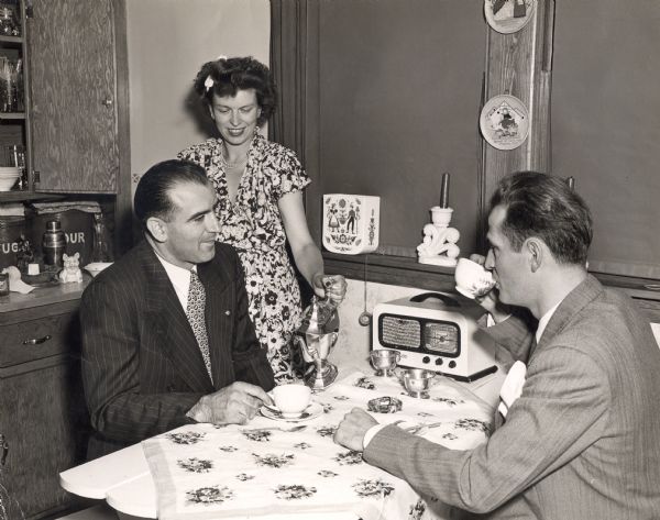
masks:
<path fill-rule="evenodd" d="M 7 447 L 0 473 L 25 519 L 76 500 L 58 474 L 84 462 L 89 431 L 77 306 L 72 300 L 0 312 L 0 434 Z"/>

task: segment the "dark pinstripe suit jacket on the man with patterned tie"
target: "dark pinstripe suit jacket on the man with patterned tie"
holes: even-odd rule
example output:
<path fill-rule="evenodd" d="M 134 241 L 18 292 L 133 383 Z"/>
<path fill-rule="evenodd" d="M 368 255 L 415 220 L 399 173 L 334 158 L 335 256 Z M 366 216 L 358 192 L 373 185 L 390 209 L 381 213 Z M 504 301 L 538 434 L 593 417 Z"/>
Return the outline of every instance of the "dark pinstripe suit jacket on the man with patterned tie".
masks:
<path fill-rule="evenodd" d="M 143 241 L 82 294 L 82 380 L 95 439 L 88 458 L 190 422 L 200 397 L 235 380 L 274 386 L 248 316 L 233 247 L 216 245 L 197 272 L 207 292 L 213 383 L 167 274 Z"/>

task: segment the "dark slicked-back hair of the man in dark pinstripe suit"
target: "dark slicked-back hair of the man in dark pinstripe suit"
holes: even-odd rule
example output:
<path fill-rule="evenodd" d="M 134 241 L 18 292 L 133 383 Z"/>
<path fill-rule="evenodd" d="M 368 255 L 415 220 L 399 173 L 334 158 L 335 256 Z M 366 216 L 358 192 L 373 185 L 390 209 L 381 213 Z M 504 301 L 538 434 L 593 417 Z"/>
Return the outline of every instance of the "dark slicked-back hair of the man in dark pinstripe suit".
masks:
<path fill-rule="evenodd" d="M 169 219 L 176 210 L 169 191 L 186 182 L 209 186 L 206 170 L 190 161 L 163 161 L 146 170 L 138 182 L 133 199 L 135 217 L 144 230 L 146 221 L 152 217 Z"/>

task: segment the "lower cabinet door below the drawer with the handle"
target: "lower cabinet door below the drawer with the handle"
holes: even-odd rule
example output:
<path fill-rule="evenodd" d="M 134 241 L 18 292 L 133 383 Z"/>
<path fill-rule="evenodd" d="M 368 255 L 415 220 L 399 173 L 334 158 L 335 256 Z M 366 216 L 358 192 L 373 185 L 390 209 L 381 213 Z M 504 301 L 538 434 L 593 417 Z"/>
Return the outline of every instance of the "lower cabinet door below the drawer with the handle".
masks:
<path fill-rule="evenodd" d="M 0 375 L 0 433 L 8 445 L 2 480 L 25 519 L 76 500 L 59 486 L 59 473 L 85 458 L 79 380 L 79 364 L 68 356 L 30 362 L 13 373 L 3 368 Z"/>

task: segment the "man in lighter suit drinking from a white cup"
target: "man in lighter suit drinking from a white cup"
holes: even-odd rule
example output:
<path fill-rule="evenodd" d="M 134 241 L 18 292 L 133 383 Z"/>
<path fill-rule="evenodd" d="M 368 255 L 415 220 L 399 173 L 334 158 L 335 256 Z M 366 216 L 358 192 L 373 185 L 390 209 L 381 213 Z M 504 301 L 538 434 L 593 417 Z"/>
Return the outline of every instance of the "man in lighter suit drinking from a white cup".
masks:
<path fill-rule="evenodd" d="M 585 203 L 563 179 L 514 174 L 493 196 L 487 237 L 486 330 L 527 365 L 506 418 L 485 444 L 452 451 L 354 409 L 336 441 L 480 518 L 660 518 L 660 351 L 630 298 L 587 274 Z M 536 334 L 502 303 L 528 309 Z"/>

